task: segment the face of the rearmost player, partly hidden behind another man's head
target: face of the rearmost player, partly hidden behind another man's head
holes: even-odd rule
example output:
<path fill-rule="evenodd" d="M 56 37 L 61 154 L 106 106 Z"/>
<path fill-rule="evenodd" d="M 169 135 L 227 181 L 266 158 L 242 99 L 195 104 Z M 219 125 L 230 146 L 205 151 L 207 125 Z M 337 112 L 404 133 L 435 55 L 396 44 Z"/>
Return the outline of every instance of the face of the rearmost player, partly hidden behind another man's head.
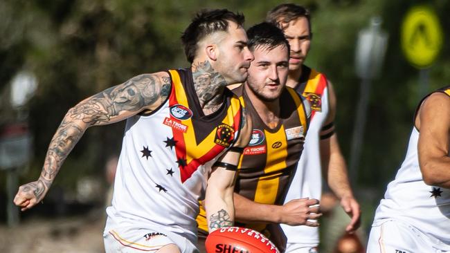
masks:
<path fill-rule="evenodd" d="M 306 17 L 299 17 L 289 23 L 282 24 L 285 37 L 291 46 L 289 58 L 289 71 L 297 71 L 305 62 L 311 45 L 311 32 Z"/>

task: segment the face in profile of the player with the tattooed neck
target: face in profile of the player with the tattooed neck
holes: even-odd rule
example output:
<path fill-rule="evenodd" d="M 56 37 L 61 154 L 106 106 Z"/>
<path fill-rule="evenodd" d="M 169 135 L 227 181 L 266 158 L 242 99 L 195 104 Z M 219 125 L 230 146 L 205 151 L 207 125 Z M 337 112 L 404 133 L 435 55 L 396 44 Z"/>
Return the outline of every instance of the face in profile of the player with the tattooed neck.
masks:
<path fill-rule="evenodd" d="M 218 44 L 219 57 L 215 64 L 218 71 L 227 84 L 244 82 L 248 75 L 253 54 L 247 47 L 247 35 L 244 28 L 229 22 L 228 32 Z"/>

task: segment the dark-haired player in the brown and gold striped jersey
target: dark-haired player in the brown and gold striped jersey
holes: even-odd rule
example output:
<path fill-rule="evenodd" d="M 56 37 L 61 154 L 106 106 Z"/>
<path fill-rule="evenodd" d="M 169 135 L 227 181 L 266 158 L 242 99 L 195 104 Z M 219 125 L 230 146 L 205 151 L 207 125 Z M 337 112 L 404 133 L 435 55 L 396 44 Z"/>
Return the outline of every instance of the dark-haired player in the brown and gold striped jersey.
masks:
<path fill-rule="evenodd" d="M 285 86 L 289 72 L 289 43 L 282 31 L 269 23 L 247 30 L 255 60 L 243 85 L 233 89 L 253 119 L 249 146 L 240 158 L 235 185 L 236 219 L 270 237 L 284 248 L 280 227 L 271 224 L 317 226 L 321 214 L 316 199 L 292 200 L 282 205 L 295 173 L 308 127 L 309 107 L 292 88 Z M 206 235 L 201 212 L 200 233 Z"/>

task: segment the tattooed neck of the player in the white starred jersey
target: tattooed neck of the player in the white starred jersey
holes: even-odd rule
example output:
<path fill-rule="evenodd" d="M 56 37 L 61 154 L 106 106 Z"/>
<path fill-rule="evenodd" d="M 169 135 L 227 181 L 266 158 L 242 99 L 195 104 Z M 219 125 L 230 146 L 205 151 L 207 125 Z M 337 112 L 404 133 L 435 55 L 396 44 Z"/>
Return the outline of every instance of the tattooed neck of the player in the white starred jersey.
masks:
<path fill-rule="evenodd" d="M 192 64 L 195 91 L 203 109 L 215 111 L 224 101 L 226 87 L 224 77 L 217 73 L 208 61 Z"/>

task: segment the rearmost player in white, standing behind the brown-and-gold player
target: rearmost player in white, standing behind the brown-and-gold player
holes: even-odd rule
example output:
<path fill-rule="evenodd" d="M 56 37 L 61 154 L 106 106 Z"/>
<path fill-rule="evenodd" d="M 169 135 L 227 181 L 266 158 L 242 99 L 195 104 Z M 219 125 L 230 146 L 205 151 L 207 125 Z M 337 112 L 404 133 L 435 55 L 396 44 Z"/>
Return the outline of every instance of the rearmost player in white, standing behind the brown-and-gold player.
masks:
<path fill-rule="evenodd" d="M 291 47 L 287 86 L 303 94 L 312 109 L 305 151 L 285 202 L 321 198 L 324 177 L 352 218 L 345 228 L 352 232 L 359 227 L 361 211 L 350 188 L 345 160 L 334 132 L 336 97 L 333 86 L 325 75 L 304 65 L 312 39 L 309 11 L 291 3 L 280 4 L 269 11 L 266 20 L 282 28 Z M 312 252 L 319 243 L 317 227 L 282 225 L 282 229 L 287 236 L 287 252 Z"/>

